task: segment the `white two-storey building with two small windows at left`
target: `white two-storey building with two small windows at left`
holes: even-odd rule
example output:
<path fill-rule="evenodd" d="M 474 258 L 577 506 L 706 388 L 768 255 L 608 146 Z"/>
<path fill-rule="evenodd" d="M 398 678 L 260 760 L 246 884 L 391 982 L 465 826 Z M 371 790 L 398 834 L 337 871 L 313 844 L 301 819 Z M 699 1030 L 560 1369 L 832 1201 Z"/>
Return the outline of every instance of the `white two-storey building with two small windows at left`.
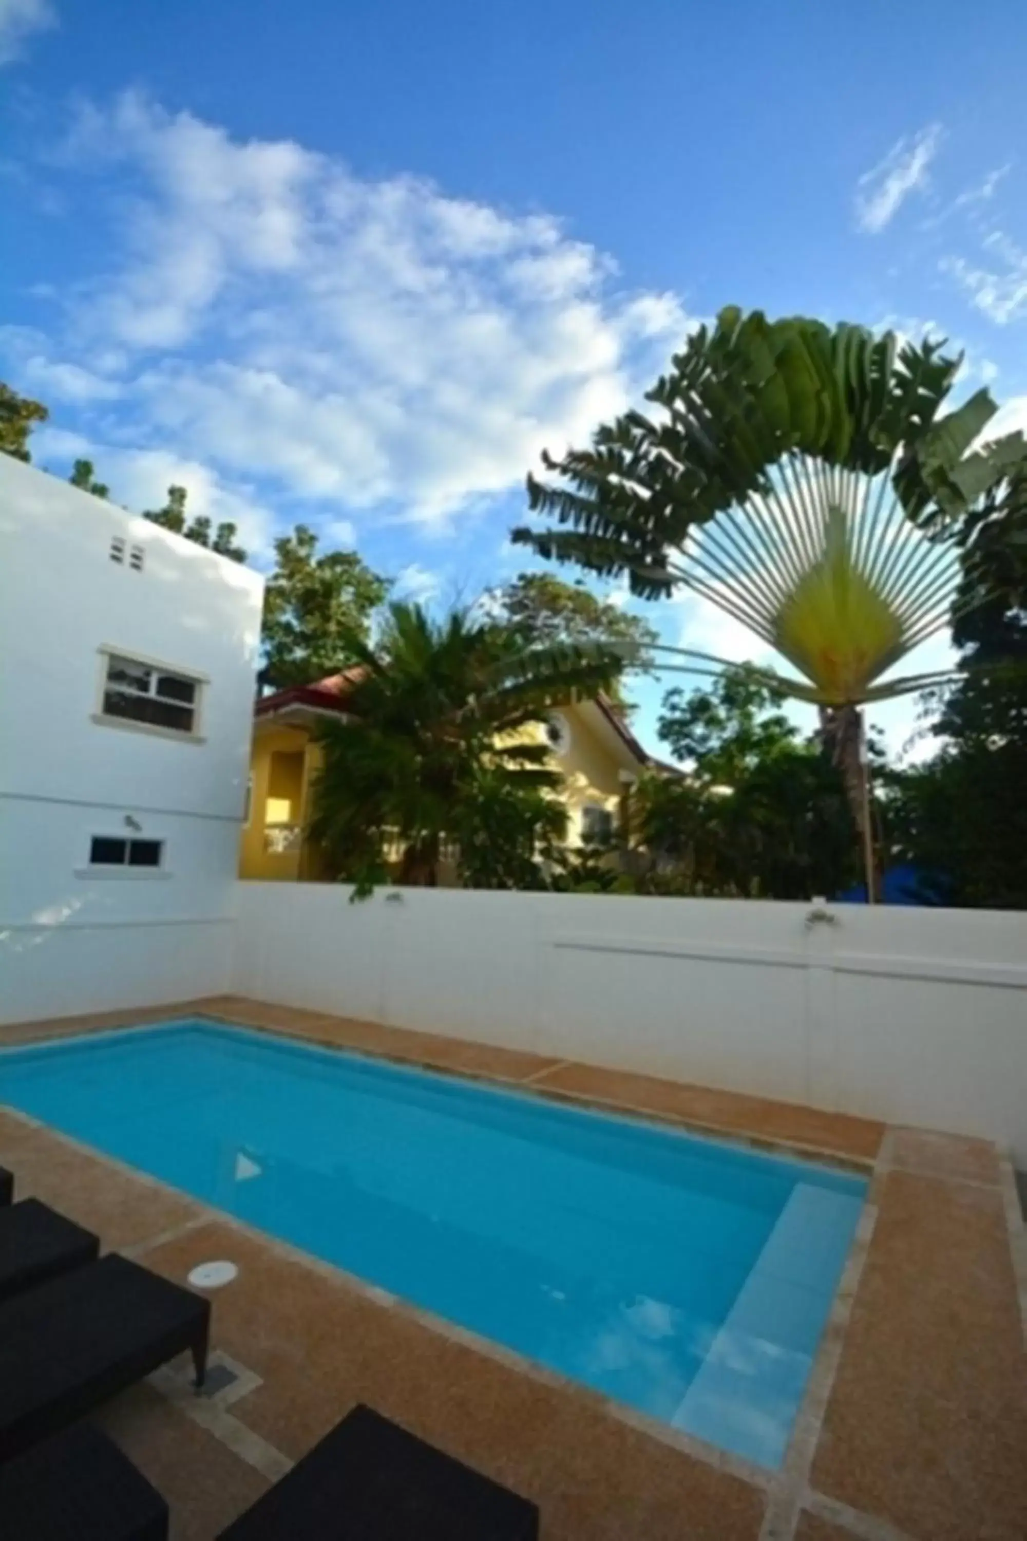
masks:
<path fill-rule="evenodd" d="M 0 1022 L 226 988 L 262 598 L 0 453 Z"/>

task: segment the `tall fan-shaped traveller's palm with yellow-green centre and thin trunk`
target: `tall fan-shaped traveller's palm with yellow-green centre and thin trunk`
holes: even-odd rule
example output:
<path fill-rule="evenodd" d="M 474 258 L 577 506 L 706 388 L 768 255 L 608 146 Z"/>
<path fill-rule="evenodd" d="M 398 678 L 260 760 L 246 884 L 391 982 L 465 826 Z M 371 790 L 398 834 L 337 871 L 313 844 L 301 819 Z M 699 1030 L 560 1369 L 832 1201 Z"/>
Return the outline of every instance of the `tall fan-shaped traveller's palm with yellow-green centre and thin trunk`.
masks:
<path fill-rule="evenodd" d="M 942 347 L 724 310 L 648 391 L 650 415 L 544 456 L 556 479 L 528 478 L 528 498 L 554 522 L 514 530 L 544 556 L 627 573 L 647 598 L 685 586 L 793 666 L 767 675 L 821 710 L 870 897 L 861 709 L 950 676 L 892 669 L 978 603 L 975 550 L 1022 495 L 1027 464 L 1019 433 L 978 447 L 996 411 L 985 390 L 942 413 L 961 362 Z M 681 672 L 724 667 L 656 650 L 685 658 L 664 666 Z"/>

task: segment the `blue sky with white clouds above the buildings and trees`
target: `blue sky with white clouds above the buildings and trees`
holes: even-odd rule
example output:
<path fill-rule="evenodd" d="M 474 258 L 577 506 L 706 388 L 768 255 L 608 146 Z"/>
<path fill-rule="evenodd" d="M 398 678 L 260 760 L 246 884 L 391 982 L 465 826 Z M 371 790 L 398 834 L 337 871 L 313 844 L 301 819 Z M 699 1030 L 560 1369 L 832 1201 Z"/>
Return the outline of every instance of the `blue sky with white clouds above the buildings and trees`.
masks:
<path fill-rule="evenodd" d="M 537 566 L 540 450 L 725 304 L 947 336 L 1027 427 L 1025 71 L 1019 0 L 0 0 L 0 378 L 128 509 L 467 603 Z"/>

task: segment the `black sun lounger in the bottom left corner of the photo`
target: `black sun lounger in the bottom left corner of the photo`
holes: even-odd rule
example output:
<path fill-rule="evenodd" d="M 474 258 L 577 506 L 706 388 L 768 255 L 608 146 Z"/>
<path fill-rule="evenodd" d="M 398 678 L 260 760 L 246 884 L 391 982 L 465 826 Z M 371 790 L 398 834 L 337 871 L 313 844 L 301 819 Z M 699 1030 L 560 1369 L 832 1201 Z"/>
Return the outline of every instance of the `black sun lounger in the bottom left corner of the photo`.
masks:
<path fill-rule="evenodd" d="M 168 1506 L 126 1455 L 77 1424 L 0 1465 L 3 1541 L 168 1541 Z"/>

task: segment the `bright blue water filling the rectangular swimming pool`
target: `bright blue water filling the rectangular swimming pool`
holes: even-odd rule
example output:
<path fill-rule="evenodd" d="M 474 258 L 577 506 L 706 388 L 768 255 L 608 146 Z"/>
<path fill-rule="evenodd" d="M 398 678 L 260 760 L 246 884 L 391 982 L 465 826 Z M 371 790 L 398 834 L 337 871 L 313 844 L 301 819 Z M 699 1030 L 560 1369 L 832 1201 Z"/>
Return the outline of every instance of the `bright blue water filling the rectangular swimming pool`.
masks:
<path fill-rule="evenodd" d="M 242 1028 L 0 1053 L 0 1103 L 748 1456 L 782 1459 L 865 1182 Z"/>

